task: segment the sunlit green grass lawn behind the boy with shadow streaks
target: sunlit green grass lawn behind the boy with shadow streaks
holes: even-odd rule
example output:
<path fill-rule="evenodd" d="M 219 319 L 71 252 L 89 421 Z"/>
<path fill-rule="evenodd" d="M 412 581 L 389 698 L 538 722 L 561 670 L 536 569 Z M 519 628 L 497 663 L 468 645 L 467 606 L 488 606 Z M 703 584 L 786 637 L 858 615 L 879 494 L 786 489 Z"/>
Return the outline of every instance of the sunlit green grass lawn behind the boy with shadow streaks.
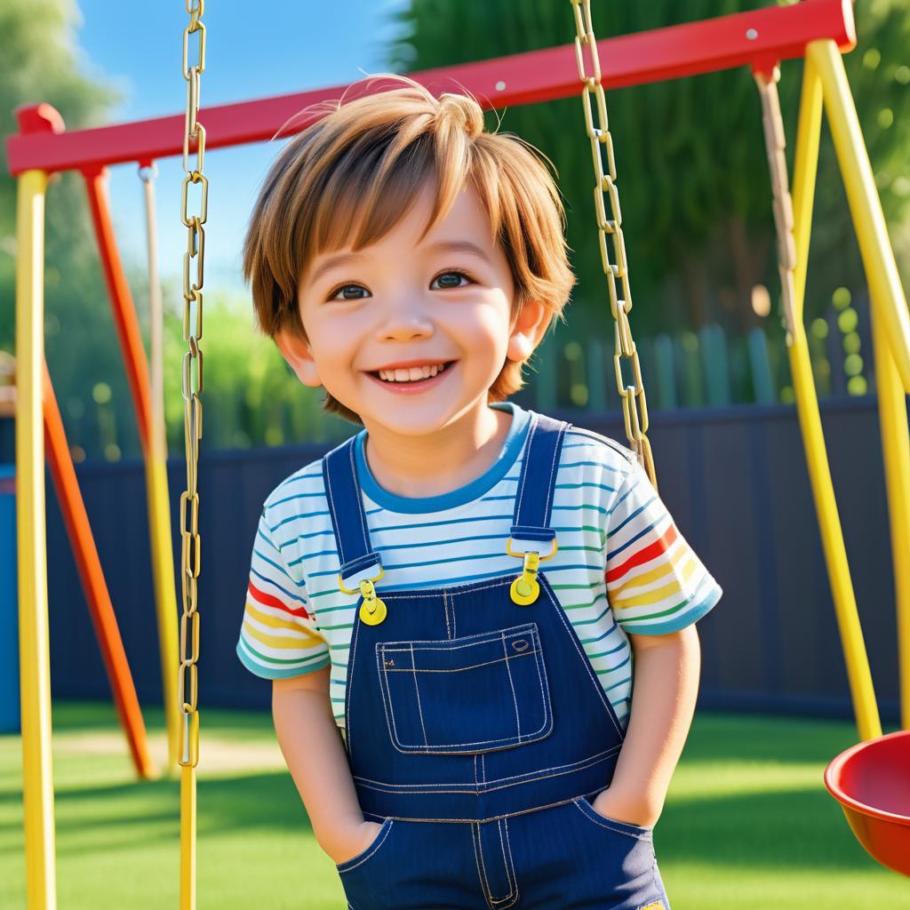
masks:
<path fill-rule="evenodd" d="M 201 717 L 200 910 L 343 907 L 268 713 Z M 161 712 L 146 722 L 159 747 Z M 910 907 L 910 882 L 864 853 L 824 789 L 854 741 L 850 723 L 696 715 L 654 833 L 672 910 Z M 21 763 L 19 737 L 0 736 L 4 908 L 25 907 Z M 62 910 L 176 907 L 177 781 L 136 783 L 112 707 L 54 704 L 54 773 Z"/>

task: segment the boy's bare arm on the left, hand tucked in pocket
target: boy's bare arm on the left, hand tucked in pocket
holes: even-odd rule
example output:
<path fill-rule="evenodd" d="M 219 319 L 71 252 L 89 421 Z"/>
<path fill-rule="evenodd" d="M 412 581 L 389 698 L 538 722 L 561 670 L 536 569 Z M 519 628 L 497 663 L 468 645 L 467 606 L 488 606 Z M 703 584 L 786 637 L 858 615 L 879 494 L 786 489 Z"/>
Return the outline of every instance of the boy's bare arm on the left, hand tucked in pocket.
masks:
<path fill-rule="evenodd" d="M 329 703 L 329 667 L 272 681 L 278 744 L 319 846 L 336 863 L 359 854 L 379 830 L 364 820 L 348 755 Z"/>

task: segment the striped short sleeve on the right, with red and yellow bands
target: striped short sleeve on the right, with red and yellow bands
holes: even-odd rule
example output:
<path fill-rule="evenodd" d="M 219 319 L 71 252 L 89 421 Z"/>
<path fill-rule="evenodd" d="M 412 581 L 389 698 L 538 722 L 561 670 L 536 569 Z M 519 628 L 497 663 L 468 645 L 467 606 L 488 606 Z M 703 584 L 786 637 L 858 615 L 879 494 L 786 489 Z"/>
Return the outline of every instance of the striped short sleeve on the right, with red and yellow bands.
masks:
<path fill-rule="evenodd" d="M 605 551 L 607 598 L 625 632 L 679 632 L 700 620 L 723 593 L 638 462 L 613 496 Z"/>

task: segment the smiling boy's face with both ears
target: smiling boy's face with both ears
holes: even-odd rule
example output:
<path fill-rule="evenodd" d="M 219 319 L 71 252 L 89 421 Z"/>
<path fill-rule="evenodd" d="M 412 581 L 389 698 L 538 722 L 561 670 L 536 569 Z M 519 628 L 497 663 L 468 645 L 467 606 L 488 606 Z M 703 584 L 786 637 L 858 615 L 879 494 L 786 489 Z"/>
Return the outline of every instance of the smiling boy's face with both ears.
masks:
<path fill-rule="evenodd" d="M 276 336 L 299 379 L 325 386 L 368 431 L 425 435 L 486 408 L 506 359 L 527 359 L 547 328 L 536 301 L 512 318 L 511 269 L 476 191 L 463 191 L 418 246 L 432 203 L 428 185 L 378 243 L 308 263 L 298 285 L 308 344 Z M 423 381 L 379 378 L 379 369 L 414 378 L 428 370 L 410 368 L 424 364 L 447 366 Z"/>

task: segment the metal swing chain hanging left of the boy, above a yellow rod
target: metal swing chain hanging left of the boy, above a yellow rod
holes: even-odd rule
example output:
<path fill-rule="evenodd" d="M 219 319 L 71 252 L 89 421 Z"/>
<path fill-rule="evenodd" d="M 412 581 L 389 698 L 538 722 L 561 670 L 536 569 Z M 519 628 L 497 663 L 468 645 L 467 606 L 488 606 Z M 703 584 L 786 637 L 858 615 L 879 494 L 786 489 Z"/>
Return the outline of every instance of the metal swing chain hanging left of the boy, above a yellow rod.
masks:
<path fill-rule="evenodd" d="M 183 257 L 183 339 L 187 352 L 183 356 L 181 388 L 184 398 L 184 435 L 187 448 L 187 489 L 180 495 L 180 535 L 182 538 L 181 589 L 183 615 L 180 617 L 180 753 L 183 767 L 195 768 L 199 761 L 198 672 L 199 613 L 197 611 L 197 581 L 200 570 L 199 493 L 197 489 L 199 440 L 202 438 L 202 276 L 206 251 L 205 228 L 208 208 L 208 181 L 203 176 L 206 153 L 206 127 L 198 120 L 199 77 L 206 68 L 206 26 L 202 24 L 205 0 L 187 0 L 189 25 L 183 32 L 183 76 L 187 80 L 187 116 L 183 137 L 183 189 L 180 197 L 180 217 L 187 227 L 187 252 Z M 189 65 L 190 35 L 197 35 L 197 62 Z M 190 170 L 189 156 L 196 143 L 195 167 Z M 200 184 L 199 214 L 187 212 L 189 185 Z M 196 260 L 196 280 L 190 282 L 193 260 Z M 187 526 L 188 521 L 188 526 Z"/>

